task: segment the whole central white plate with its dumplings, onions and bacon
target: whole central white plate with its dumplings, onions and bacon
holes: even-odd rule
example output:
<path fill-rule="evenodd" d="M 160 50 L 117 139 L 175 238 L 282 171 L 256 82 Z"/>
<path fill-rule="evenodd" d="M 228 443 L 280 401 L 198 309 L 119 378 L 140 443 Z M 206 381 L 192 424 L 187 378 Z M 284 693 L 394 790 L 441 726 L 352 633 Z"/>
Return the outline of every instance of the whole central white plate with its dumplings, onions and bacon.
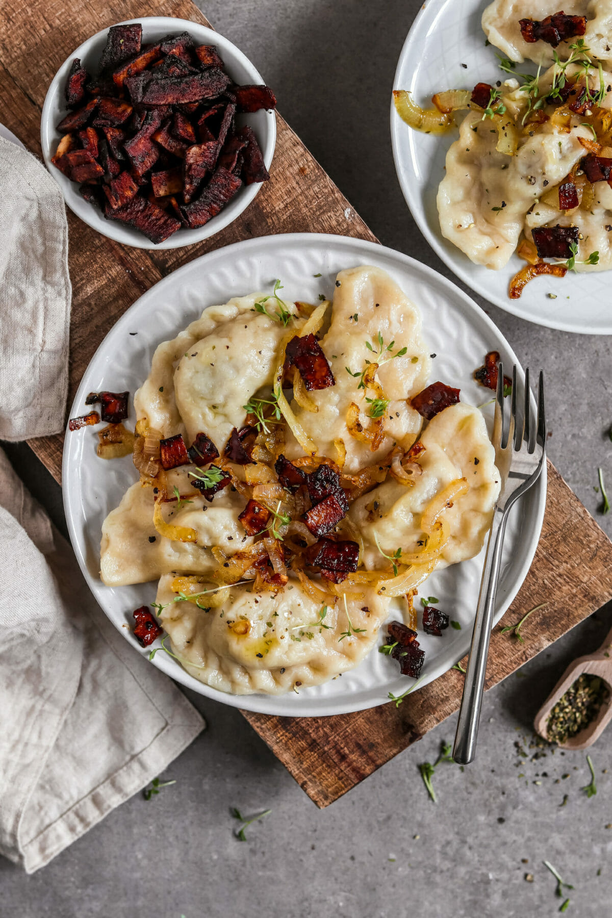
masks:
<path fill-rule="evenodd" d="M 439 677 L 470 643 L 500 487 L 494 393 L 474 379 L 494 351 L 517 363 L 462 291 L 368 241 L 263 237 L 161 280 L 72 406 L 127 390 L 134 458 L 100 458 L 89 427 L 64 447 L 72 545 L 109 619 L 153 666 L 249 711 L 337 714 L 406 692 L 415 679 L 380 652 L 391 621 L 417 632 L 418 686 Z M 542 476 L 510 518 L 495 621 L 545 498 Z M 143 606 L 163 629 L 144 649 Z"/>

